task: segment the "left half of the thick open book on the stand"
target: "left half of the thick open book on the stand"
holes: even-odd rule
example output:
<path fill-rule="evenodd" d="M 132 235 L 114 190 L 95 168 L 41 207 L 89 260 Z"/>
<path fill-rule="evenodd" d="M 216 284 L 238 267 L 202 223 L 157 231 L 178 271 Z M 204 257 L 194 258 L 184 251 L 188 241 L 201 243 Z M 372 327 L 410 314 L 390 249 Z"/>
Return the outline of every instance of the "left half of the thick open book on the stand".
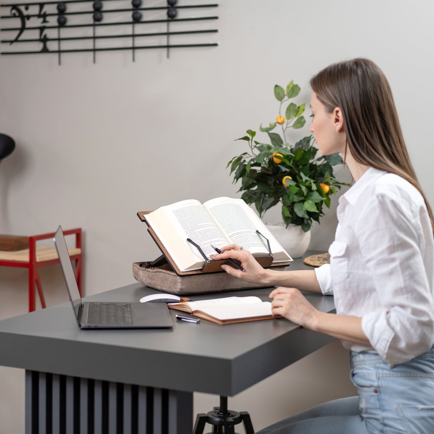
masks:
<path fill-rule="evenodd" d="M 197 270 L 204 264 L 203 256 L 187 238 L 200 246 L 208 259 L 215 253 L 210 244 L 229 243 L 199 201 L 187 200 L 160 207 L 148 214 L 146 220 L 182 271 Z"/>

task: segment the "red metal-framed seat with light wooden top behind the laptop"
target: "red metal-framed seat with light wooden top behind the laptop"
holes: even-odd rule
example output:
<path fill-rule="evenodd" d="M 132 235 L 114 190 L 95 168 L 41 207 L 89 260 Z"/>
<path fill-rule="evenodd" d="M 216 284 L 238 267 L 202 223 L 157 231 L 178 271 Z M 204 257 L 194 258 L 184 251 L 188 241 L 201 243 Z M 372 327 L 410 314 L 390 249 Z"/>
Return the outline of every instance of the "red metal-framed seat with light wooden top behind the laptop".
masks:
<path fill-rule="evenodd" d="M 76 247 L 68 249 L 71 260 L 76 260 L 76 281 L 79 287 L 80 296 L 82 295 L 82 230 L 81 228 L 64 230 L 64 235 L 76 234 Z M 29 237 L 29 248 L 8 251 L 0 250 L 0 266 L 22 267 L 29 269 L 29 312 L 33 312 L 36 307 L 36 286 L 38 288 L 41 306 L 46 307 L 42 292 L 41 281 L 39 279 L 38 268 L 59 262 L 56 247 L 36 246 L 36 241 L 46 240 L 54 237 L 53 233 L 33 235 Z"/>

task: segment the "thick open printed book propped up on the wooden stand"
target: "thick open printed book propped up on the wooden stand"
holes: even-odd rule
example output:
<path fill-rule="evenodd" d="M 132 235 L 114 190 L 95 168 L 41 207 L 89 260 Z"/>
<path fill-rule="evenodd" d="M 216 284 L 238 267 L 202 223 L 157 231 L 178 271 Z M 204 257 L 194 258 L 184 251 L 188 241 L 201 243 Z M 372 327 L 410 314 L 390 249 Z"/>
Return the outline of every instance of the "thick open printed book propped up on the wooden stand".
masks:
<path fill-rule="evenodd" d="M 205 256 L 215 254 L 215 247 L 238 244 L 249 250 L 253 256 L 269 253 L 266 240 L 270 241 L 273 264 L 292 261 L 289 254 L 277 242 L 260 218 L 241 199 L 219 197 L 201 204 L 196 200 L 187 200 L 167 205 L 146 215 L 146 221 L 168 251 L 181 271 L 200 270 L 205 264 Z"/>

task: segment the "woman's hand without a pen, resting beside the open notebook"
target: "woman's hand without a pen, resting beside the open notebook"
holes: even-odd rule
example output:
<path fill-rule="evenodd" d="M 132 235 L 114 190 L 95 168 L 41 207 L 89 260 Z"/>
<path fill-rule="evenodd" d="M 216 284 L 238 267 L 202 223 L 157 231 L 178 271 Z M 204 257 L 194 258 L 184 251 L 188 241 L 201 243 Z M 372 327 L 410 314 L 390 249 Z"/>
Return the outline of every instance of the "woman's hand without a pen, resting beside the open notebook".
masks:
<path fill-rule="evenodd" d="M 279 286 L 271 291 L 271 313 L 273 316 L 283 316 L 289 321 L 302 325 L 306 329 L 314 328 L 316 310 L 296 288 Z"/>

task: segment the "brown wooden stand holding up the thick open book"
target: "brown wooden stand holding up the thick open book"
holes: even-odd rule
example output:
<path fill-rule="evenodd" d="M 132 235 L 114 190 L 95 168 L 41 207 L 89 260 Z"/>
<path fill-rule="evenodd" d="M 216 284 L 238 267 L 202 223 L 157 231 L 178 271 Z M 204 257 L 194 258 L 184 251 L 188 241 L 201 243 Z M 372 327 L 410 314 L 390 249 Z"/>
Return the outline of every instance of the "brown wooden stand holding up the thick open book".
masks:
<path fill-rule="evenodd" d="M 161 243 L 157 234 L 154 230 L 149 226 L 148 221 L 146 220 L 146 215 L 150 214 L 152 211 L 138 211 L 138 218 L 145 222 L 148 226 L 148 233 L 151 235 L 152 239 L 157 244 L 158 248 L 161 250 L 162 255 L 159 256 L 156 260 L 152 262 L 143 263 L 142 267 L 149 268 L 161 268 L 162 270 L 174 271 L 178 276 L 192 276 L 197 274 L 210 274 L 210 273 L 225 273 L 222 270 L 221 266 L 224 264 L 230 265 L 227 260 L 207 260 L 201 270 L 191 270 L 191 271 L 181 271 L 178 266 L 175 264 L 172 257 L 169 255 L 168 251 Z M 273 256 L 271 254 L 264 256 L 255 256 L 256 261 L 264 268 L 274 268 L 274 267 L 282 267 L 290 265 L 290 261 L 288 262 L 279 262 L 273 265 Z M 237 261 L 239 262 L 239 261 Z"/>

